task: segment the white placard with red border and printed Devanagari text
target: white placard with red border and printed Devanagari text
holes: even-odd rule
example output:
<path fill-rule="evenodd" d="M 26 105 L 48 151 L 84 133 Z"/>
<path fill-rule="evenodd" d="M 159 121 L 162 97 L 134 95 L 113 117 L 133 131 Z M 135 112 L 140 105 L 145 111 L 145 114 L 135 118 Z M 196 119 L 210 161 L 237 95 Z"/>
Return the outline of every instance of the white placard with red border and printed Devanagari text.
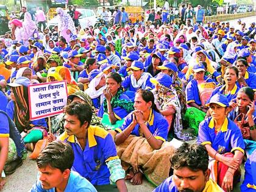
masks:
<path fill-rule="evenodd" d="M 68 88 L 65 80 L 29 85 L 30 120 L 62 113 L 67 99 Z"/>

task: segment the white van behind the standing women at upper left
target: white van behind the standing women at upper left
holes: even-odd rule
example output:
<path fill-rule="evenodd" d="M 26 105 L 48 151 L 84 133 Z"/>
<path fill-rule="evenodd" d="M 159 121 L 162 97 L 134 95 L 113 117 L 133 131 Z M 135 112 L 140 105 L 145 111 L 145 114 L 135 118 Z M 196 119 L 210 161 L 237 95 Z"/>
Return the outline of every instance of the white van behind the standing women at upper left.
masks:
<path fill-rule="evenodd" d="M 94 24 L 97 21 L 96 14 L 91 9 L 76 9 L 79 11 L 82 15 L 79 16 L 79 23 L 82 29 L 85 29 L 89 26 L 94 26 Z M 68 10 L 65 10 L 65 12 L 68 12 Z M 59 20 L 58 16 L 55 16 L 50 21 L 48 21 L 48 28 L 52 29 L 54 26 L 58 26 Z"/>

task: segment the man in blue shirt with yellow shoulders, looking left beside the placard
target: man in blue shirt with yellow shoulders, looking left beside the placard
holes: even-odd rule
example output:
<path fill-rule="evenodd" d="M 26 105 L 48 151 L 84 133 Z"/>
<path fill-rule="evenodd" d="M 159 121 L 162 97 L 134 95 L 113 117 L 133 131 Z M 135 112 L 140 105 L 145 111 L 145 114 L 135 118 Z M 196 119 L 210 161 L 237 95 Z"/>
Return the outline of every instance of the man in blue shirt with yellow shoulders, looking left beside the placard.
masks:
<path fill-rule="evenodd" d="M 65 132 L 58 139 L 69 143 L 74 151 L 72 169 L 96 188 L 105 185 L 111 191 L 117 187 L 126 192 L 125 171 L 112 135 L 101 127 L 90 125 L 93 115 L 90 105 L 72 102 L 65 107 L 64 113 Z"/>

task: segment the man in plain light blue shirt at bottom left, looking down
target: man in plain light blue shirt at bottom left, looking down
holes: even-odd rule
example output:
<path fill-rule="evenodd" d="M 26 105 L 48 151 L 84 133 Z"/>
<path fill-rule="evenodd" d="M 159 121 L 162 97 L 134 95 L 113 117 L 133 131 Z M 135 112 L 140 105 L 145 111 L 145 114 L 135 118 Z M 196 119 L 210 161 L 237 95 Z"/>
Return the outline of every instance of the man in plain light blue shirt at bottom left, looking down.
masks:
<path fill-rule="evenodd" d="M 73 161 L 74 152 L 68 143 L 49 143 L 37 158 L 38 179 L 30 192 L 96 192 L 87 179 L 71 171 Z"/>

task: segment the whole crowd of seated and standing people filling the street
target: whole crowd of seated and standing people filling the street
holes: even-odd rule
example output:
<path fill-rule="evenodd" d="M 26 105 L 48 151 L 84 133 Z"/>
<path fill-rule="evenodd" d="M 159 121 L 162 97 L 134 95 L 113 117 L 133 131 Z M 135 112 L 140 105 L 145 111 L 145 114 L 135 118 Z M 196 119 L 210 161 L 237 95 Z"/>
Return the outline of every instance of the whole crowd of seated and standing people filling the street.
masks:
<path fill-rule="evenodd" d="M 201 5 L 168 1 L 148 20 L 104 8 L 82 29 L 80 15 L 59 7 L 48 29 L 23 7 L 0 38 L 0 190 L 32 151 L 30 191 L 127 191 L 143 176 L 154 191 L 255 191 L 255 23 L 204 25 Z M 63 113 L 31 120 L 29 86 L 61 80 Z"/>

